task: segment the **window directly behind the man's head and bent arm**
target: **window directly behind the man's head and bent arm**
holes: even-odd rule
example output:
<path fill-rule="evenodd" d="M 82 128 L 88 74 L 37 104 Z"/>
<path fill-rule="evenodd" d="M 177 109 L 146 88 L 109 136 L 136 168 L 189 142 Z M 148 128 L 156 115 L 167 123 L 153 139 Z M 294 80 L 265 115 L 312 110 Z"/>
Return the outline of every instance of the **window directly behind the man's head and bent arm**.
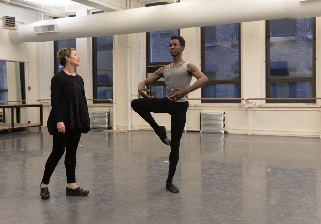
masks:
<path fill-rule="evenodd" d="M 146 4 L 148 6 L 163 5 L 165 2 Z M 147 77 L 151 76 L 157 69 L 170 64 L 173 57 L 170 55 L 168 46 L 170 37 L 179 35 L 179 30 L 164 30 L 146 33 L 146 52 L 147 52 Z M 147 92 L 156 98 L 165 97 L 165 79 L 161 78 L 150 87 L 151 91 Z"/>

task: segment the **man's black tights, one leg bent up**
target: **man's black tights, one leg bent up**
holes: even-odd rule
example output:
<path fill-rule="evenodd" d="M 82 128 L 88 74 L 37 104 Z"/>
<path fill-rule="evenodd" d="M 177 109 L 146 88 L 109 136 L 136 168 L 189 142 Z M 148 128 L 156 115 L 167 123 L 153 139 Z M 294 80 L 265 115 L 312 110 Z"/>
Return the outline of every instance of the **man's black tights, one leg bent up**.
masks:
<path fill-rule="evenodd" d="M 169 177 L 168 183 L 173 181 L 173 176 L 176 171 L 176 166 L 179 158 L 179 142 L 182 137 L 185 122 L 186 122 L 186 111 L 188 108 L 188 101 L 176 102 L 171 101 L 167 98 L 163 99 L 136 99 L 131 103 L 132 108 L 137 112 L 148 124 L 152 126 L 154 131 L 157 133 L 159 125 L 156 123 L 151 115 L 153 113 L 164 113 L 170 114 L 171 121 L 171 137 L 170 137 L 170 154 L 169 154 Z"/>

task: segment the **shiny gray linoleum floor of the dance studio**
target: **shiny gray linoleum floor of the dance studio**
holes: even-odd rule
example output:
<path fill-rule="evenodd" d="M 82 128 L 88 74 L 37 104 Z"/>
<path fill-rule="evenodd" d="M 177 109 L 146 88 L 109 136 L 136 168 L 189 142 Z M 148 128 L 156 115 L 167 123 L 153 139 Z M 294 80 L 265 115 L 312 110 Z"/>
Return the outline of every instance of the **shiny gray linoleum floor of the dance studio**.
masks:
<path fill-rule="evenodd" d="M 0 223 L 321 223 L 320 138 L 183 133 L 174 194 L 169 146 L 152 131 L 82 135 L 77 183 L 61 160 L 40 199 L 51 152 L 46 127 L 0 134 Z M 63 157 L 64 158 L 64 157 Z"/>

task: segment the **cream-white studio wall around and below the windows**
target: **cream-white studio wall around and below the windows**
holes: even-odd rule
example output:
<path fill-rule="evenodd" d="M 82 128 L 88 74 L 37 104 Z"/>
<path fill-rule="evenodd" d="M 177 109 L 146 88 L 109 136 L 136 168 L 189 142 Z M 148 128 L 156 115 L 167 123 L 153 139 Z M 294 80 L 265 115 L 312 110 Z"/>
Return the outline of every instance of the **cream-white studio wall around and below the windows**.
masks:
<path fill-rule="evenodd" d="M 3 4 L 1 5 L 3 6 Z M 4 5 L 5 7 L 11 7 Z M 132 7 L 142 4 L 131 2 Z M 11 8 L 10 8 L 11 9 Z M 6 9 L 6 12 L 11 12 Z M 23 12 L 22 12 L 23 11 Z M 19 20 L 33 22 L 37 13 L 14 8 L 12 16 Z M 0 13 L 4 13 L 0 11 Z M 86 8 L 76 9 L 76 16 L 86 15 Z M 17 19 L 18 20 L 18 19 Z M 27 23 L 27 22 L 26 22 Z M 183 59 L 200 67 L 200 28 L 180 30 L 186 40 L 186 49 Z M 146 77 L 146 46 L 145 34 L 114 36 L 113 70 L 114 70 L 114 103 L 91 105 L 90 111 L 111 110 L 110 123 L 117 130 L 127 130 L 127 122 L 131 129 L 150 129 L 133 110 L 130 110 L 128 120 L 128 97 L 137 98 L 137 85 Z M 130 79 L 127 78 L 127 47 L 130 47 Z M 321 20 L 317 18 L 317 97 L 321 97 Z M 0 29 L 0 60 L 27 61 L 26 87 L 27 102 L 37 103 L 37 99 L 50 99 L 50 79 L 53 76 L 53 42 L 14 44 L 9 40 L 8 31 Z M 28 50 L 28 52 L 27 52 Z M 10 53 L 7 53 L 10 52 Z M 86 97 L 92 99 L 92 47 L 91 38 L 77 39 L 77 52 L 81 58 L 81 65 L 77 73 L 85 81 Z M 194 82 L 195 79 L 192 80 Z M 265 97 L 265 21 L 247 22 L 241 24 L 241 97 Z M 127 87 L 127 83 L 130 88 Z M 200 98 L 201 91 L 196 90 L 189 94 L 190 98 Z M 242 105 L 246 102 L 242 101 Z M 49 101 L 47 102 L 47 105 Z M 319 106 L 321 100 L 315 104 L 299 104 L 300 106 Z M 320 137 L 321 113 L 320 108 L 211 108 L 208 106 L 239 106 L 241 104 L 202 104 L 200 100 L 190 100 L 187 111 L 187 130 L 200 130 L 200 111 L 219 111 L 226 113 L 226 128 L 229 133 L 265 134 L 265 135 L 299 135 Z M 250 105 L 265 105 L 264 100 L 254 100 Z M 268 104 L 268 106 L 295 106 L 296 104 Z M 205 106 L 205 107 L 197 107 Z M 47 121 L 50 107 L 44 108 L 44 123 Z M 28 120 L 39 119 L 39 113 L 27 113 Z M 155 120 L 170 130 L 170 116 L 155 114 Z"/>

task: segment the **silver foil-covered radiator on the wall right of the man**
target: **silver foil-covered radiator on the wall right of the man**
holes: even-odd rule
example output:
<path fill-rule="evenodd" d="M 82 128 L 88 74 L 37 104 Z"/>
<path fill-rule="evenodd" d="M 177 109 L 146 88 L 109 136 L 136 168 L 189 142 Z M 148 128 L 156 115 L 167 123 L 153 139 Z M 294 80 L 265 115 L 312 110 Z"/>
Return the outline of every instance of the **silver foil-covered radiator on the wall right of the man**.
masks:
<path fill-rule="evenodd" d="M 224 134 L 224 112 L 200 112 L 201 133 Z"/>

